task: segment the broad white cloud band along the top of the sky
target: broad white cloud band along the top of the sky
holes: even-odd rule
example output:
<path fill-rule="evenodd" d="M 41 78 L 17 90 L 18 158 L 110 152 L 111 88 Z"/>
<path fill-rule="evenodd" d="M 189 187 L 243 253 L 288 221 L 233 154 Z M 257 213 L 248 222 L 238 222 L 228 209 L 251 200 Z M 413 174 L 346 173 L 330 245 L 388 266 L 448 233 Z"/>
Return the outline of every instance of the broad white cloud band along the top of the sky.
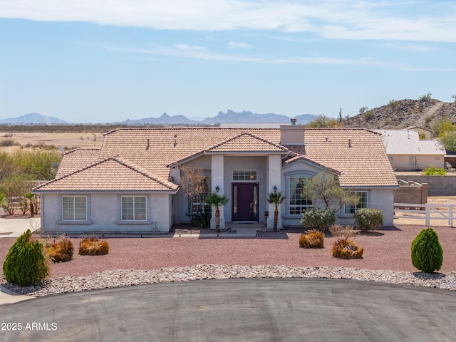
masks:
<path fill-rule="evenodd" d="M 303 32 L 329 39 L 456 42 L 453 0 L 0 0 L 0 17 L 167 30 Z"/>

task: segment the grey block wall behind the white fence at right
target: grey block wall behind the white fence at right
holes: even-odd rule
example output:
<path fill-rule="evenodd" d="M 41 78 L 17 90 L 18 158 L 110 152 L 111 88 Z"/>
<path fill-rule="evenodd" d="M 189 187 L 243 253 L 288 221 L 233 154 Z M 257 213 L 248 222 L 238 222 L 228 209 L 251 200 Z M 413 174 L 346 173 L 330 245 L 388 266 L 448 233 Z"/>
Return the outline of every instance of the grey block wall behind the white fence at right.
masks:
<path fill-rule="evenodd" d="M 425 175 L 396 175 L 406 182 L 427 183 L 427 195 L 429 196 L 456 196 L 456 174 L 446 176 Z"/>

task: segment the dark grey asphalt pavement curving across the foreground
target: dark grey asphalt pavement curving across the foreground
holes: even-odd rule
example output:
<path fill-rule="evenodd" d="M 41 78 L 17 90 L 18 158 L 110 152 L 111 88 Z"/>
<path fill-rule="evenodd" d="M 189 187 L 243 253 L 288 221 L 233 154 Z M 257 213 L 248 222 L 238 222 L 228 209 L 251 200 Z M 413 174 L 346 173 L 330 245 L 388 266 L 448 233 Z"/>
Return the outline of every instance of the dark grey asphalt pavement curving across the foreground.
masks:
<path fill-rule="evenodd" d="M 0 316 L 1 341 L 454 341 L 456 293 L 223 279 L 47 296 L 1 306 Z"/>

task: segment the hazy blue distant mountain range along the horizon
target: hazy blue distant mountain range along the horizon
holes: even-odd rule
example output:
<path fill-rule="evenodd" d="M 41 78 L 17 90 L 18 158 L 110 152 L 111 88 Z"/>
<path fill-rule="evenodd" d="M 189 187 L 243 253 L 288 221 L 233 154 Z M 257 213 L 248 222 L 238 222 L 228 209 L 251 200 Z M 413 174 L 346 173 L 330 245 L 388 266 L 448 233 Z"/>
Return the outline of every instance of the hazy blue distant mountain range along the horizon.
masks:
<path fill-rule="evenodd" d="M 297 115 L 297 123 L 305 125 L 317 118 L 317 115 L 303 114 Z M 159 118 L 143 118 L 138 120 L 125 120 L 118 121 L 114 124 L 123 125 L 214 125 L 218 123 L 289 123 L 290 117 L 286 115 L 279 115 L 274 113 L 258 114 L 248 111 L 241 113 L 227 110 L 227 113 L 219 112 L 214 118 L 205 118 L 204 120 L 190 120 L 184 115 L 167 115 L 163 113 Z M 55 118 L 53 116 L 44 116 L 38 113 L 30 113 L 21 115 L 18 118 L 8 118 L 0 120 L 0 124 L 7 125 L 71 125 L 64 120 Z"/>

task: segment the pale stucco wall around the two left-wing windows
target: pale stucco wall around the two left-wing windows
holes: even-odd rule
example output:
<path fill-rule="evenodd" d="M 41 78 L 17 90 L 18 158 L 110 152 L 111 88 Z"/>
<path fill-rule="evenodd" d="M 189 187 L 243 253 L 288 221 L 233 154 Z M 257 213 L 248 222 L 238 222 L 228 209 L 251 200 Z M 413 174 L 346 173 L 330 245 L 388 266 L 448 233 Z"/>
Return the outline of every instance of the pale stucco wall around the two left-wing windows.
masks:
<path fill-rule="evenodd" d="M 41 228 L 45 234 L 103 234 L 169 232 L 172 227 L 172 195 L 170 194 L 67 194 L 86 196 L 88 220 L 63 222 L 61 219 L 62 195 L 41 195 Z M 146 196 L 145 222 L 123 222 L 120 201 L 122 195 Z"/>

